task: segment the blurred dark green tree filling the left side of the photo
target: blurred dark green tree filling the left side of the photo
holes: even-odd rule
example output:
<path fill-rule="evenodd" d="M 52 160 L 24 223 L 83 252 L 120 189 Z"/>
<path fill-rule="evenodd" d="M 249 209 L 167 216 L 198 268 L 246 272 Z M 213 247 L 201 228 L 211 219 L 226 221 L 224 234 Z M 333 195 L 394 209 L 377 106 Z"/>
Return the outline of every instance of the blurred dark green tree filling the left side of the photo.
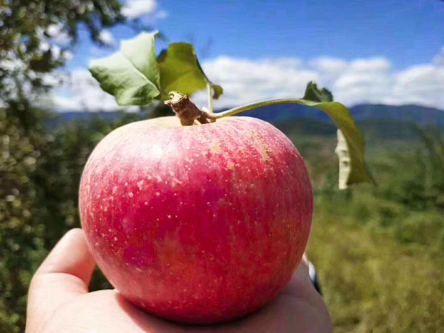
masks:
<path fill-rule="evenodd" d="M 70 55 L 79 24 L 100 44 L 104 27 L 124 21 L 120 9 L 117 0 L 0 0 L 0 327 L 4 333 L 24 330 L 33 272 L 59 235 L 78 223 L 72 174 L 79 172 L 88 154 L 79 147 L 94 142 L 94 135 L 84 142 L 79 137 L 82 145 L 68 140 L 67 147 L 56 149 L 65 142 L 57 141 L 59 133 L 48 131 L 47 120 L 54 115 L 42 110 L 42 96 L 51 88 L 48 75 Z M 62 35 L 68 44 L 57 44 L 55 37 Z M 63 137 L 71 138 L 69 128 Z M 77 169 L 72 171 L 69 163 Z"/>

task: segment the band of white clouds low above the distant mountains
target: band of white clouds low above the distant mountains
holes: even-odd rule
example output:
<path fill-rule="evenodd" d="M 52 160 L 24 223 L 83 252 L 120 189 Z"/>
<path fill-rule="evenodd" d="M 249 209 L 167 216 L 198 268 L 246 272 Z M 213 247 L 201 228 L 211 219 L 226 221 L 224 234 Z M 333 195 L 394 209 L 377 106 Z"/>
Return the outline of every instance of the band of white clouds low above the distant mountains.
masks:
<path fill-rule="evenodd" d="M 309 81 L 326 86 L 335 100 L 359 103 L 418 104 L 444 110 L 444 66 L 436 62 L 394 70 L 388 59 L 346 61 L 322 57 L 303 62 L 297 58 L 238 59 L 220 56 L 202 67 L 224 94 L 214 107 L 227 108 L 261 99 L 301 97 Z M 55 93 L 56 109 L 115 110 L 115 99 L 103 92 L 88 71 L 72 73 L 71 95 Z M 68 89 L 68 87 L 64 87 Z M 66 91 L 65 91 L 66 92 Z M 207 105 L 206 92 L 192 96 L 198 107 Z"/>

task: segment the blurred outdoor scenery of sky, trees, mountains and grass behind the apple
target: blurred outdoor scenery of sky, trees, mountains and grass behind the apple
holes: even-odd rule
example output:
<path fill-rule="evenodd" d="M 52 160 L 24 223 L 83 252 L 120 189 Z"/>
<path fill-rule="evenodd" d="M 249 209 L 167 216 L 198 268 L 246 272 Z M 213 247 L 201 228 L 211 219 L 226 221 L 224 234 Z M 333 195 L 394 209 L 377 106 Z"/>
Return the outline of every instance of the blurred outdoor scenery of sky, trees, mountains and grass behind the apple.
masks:
<path fill-rule="evenodd" d="M 444 330 L 444 2 L 0 0 L 0 332 L 22 332 L 33 272 L 79 226 L 93 147 L 124 123 L 87 71 L 119 41 L 159 30 L 194 44 L 226 109 L 333 92 L 367 141 L 378 186 L 337 189 L 336 127 L 301 106 L 249 115 L 285 132 L 315 188 L 314 262 L 337 332 Z M 206 92 L 192 96 L 206 105 Z M 97 272 L 92 289 L 107 287 Z"/>

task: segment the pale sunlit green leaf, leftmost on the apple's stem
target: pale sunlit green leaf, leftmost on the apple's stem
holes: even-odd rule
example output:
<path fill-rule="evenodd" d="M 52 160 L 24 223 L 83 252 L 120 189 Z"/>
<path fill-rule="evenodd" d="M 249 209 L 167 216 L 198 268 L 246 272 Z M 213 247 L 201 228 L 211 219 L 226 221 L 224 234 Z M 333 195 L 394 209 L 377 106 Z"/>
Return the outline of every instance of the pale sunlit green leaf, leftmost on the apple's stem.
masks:
<path fill-rule="evenodd" d="M 146 105 L 160 93 L 154 33 L 123 41 L 120 51 L 91 61 L 89 70 L 119 105 Z"/>

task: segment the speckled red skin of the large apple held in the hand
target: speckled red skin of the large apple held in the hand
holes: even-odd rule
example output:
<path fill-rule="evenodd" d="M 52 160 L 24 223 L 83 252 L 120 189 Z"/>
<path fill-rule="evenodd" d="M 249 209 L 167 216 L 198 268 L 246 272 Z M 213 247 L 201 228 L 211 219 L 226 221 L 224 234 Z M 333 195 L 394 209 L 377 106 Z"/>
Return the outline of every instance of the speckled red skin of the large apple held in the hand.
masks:
<path fill-rule="evenodd" d="M 95 147 L 79 209 L 111 284 L 156 316 L 229 321 L 285 287 L 308 242 L 313 192 L 293 143 L 250 117 L 130 123 Z"/>

